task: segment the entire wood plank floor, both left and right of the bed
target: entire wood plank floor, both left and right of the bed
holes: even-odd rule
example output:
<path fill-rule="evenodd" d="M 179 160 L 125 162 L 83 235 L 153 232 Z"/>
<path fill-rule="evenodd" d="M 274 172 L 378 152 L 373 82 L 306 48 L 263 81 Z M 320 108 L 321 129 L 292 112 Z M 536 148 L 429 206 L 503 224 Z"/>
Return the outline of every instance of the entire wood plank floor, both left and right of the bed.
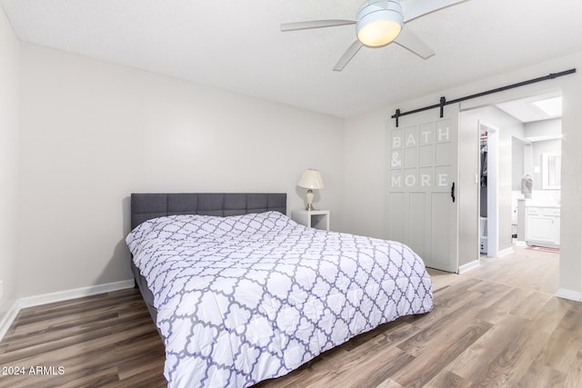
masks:
<path fill-rule="evenodd" d="M 517 248 L 467 274 L 431 270 L 431 313 L 256 388 L 580 387 L 582 303 L 553 296 L 557 269 L 557 254 Z M 0 343 L 0 368 L 11 366 L 25 375 L 0 374 L 0 387 L 166 386 L 163 345 L 133 289 L 21 311 Z"/>

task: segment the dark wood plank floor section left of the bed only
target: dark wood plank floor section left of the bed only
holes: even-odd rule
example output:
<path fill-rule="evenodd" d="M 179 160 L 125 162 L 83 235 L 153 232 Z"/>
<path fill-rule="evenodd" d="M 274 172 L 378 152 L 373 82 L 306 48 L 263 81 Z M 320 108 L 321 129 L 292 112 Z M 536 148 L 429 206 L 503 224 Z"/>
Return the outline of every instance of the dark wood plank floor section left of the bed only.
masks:
<path fill-rule="evenodd" d="M 0 387 L 163 387 L 164 358 L 139 291 L 104 293 L 22 310 L 0 343 Z"/>

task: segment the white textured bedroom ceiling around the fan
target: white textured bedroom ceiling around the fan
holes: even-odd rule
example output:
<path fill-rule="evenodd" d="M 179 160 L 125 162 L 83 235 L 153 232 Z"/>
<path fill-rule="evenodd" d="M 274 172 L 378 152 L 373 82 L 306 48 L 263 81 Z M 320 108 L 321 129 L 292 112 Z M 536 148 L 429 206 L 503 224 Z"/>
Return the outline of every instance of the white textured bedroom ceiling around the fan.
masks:
<path fill-rule="evenodd" d="M 355 40 L 353 25 L 279 30 L 353 19 L 361 3 L 2 0 L 25 42 L 339 117 L 582 51 L 576 0 L 470 0 L 408 23 L 437 55 L 363 47 L 343 72 L 332 68 Z"/>

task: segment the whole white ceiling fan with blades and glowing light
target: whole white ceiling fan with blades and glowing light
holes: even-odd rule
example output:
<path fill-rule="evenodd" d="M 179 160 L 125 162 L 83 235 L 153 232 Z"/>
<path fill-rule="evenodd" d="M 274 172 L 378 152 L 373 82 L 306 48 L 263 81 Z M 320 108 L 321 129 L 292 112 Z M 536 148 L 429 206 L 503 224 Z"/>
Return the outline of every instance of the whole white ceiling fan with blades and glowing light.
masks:
<path fill-rule="evenodd" d="M 369 0 L 357 11 L 356 20 L 332 19 L 307 22 L 285 23 L 281 31 L 306 30 L 309 28 L 356 25 L 356 41 L 339 58 L 334 71 L 341 72 L 363 45 L 381 47 L 395 42 L 416 55 L 426 59 L 435 55 L 406 23 L 420 16 L 433 13 L 450 5 L 467 0 Z"/>

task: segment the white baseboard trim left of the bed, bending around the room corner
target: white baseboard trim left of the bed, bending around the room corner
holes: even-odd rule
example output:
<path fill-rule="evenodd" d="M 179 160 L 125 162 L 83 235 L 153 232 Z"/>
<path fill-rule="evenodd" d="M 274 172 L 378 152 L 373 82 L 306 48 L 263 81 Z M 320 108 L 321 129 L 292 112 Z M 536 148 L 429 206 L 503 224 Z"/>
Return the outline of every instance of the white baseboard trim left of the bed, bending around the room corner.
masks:
<path fill-rule="evenodd" d="M 25 298 L 17 299 L 12 308 L 5 314 L 4 320 L 0 322 L 0 341 L 4 338 L 5 333 L 10 328 L 10 325 L 15 321 L 16 315 L 18 315 L 21 309 L 41 304 L 68 301 L 70 299 L 96 295 L 97 293 L 110 293 L 112 291 L 125 290 L 126 288 L 134 287 L 134 285 L 134 279 L 131 279 L 123 280 L 121 282 L 75 288 L 74 290 L 65 290 L 56 293 L 43 293 L 41 295 L 26 296 Z"/>

